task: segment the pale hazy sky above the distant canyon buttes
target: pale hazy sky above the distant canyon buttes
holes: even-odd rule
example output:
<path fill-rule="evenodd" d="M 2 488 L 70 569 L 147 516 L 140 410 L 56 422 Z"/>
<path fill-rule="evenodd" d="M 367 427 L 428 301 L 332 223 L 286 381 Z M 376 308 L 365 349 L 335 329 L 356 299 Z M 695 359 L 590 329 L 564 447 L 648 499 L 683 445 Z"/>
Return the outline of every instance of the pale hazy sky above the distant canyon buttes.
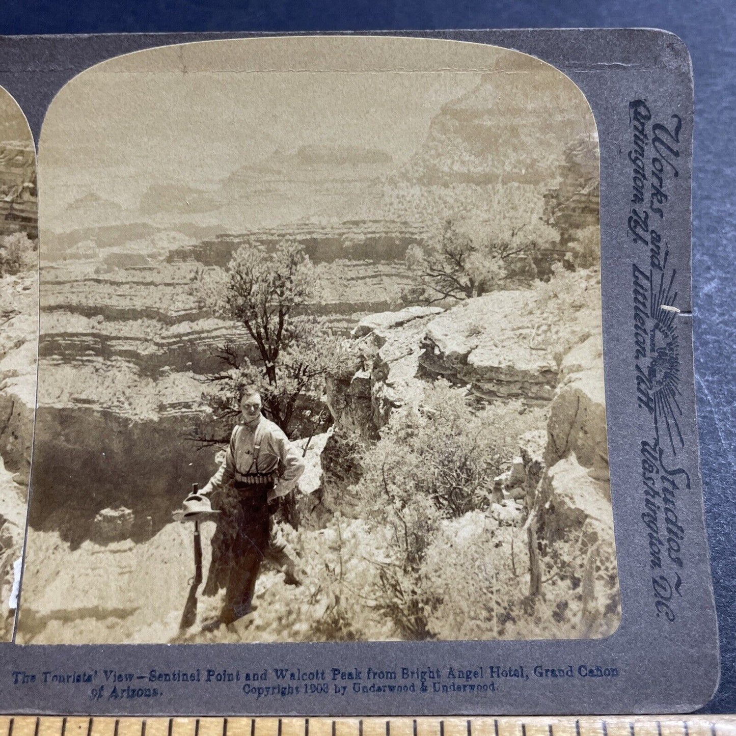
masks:
<path fill-rule="evenodd" d="M 152 183 L 216 188 L 233 170 L 304 144 L 381 149 L 389 173 L 442 105 L 483 74 L 530 63 L 545 66 L 495 46 L 365 37 L 209 41 L 118 57 L 82 72 L 49 107 L 41 225 L 68 230 L 69 203 L 87 194 L 132 217 Z"/>

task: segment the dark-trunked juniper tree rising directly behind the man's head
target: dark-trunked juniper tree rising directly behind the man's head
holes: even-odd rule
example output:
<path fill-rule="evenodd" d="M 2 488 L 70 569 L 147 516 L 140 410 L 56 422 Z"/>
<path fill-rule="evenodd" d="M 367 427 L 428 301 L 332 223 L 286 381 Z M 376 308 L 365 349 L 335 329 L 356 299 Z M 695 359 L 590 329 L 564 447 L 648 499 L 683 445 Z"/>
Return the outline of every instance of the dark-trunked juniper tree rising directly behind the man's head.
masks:
<path fill-rule="evenodd" d="M 247 338 L 224 344 L 217 351 L 222 368 L 202 378 L 211 414 L 197 421 L 192 438 L 202 445 L 227 442 L 245 383 L 258 386 L 263 413 L 287 436 L 318 431 L 328 415 L 320 398 L 337 339 L 325 319 L 304 314 L 319 284 L 302 247 L 282 241 L 269 251 L 244 244 L 224 272 L 200 277 L 198 288 Z"/>

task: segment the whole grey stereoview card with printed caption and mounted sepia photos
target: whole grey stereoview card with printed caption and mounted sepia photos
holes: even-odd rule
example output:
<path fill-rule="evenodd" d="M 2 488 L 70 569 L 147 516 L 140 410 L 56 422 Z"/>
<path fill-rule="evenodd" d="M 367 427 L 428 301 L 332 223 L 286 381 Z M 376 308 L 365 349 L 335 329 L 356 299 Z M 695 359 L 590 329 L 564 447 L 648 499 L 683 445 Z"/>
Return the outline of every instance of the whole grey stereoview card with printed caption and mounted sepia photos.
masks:
<path fill-rule="evenodd" d="M 678 38 L 0 57 L 2 712 L 710 698 Z"/>

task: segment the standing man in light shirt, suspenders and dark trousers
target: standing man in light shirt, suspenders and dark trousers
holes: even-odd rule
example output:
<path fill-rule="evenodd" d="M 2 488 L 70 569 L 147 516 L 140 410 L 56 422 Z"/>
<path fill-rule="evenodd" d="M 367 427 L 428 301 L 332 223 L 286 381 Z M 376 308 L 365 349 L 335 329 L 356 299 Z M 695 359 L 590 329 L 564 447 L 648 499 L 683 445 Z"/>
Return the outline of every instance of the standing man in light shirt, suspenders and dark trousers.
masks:
<path fill-rule="evenodd" d="M 301 454 L 281 428 L 261 414 L 258 389 L 243 386 L 238 404 L 241 419 L 233 428 L 224 461 L 199 492 L 205 496 L 220 492 L 221 513 L 203 595 L 225 589 L 218 622 L 224 624 L 252 610 L 264 556 L 286 556 L 283 549 L 269 551 L 269 502 L 289 493 L 304 472 Z"/>

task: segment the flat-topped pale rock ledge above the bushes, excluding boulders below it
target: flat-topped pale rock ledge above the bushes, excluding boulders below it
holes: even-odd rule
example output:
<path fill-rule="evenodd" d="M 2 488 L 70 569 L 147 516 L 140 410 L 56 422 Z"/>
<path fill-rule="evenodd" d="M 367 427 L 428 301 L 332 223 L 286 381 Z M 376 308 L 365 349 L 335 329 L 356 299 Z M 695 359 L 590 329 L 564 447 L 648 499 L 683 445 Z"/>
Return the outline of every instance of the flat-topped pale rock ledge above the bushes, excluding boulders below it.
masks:
<path fill-rule="evenodd" d="M 563 272 L 550 283 L 447 309 L 416 306 L 364 317 L 347 342 L 353 362 L 328 383 L 337 428 L 376 436 L 394 408 L 418 400 L 423 381 L 439 377 L 488 401 L 546 404 L 562 383 L 571 394 L 582 390 L 581 382 L 602 386 L 600 376 L 576 370 L 593 360 L 586 341 L 600 344 L 599 283 L 592 270 Z M 599 363 L 602 371 L 602 358 Z"/>

